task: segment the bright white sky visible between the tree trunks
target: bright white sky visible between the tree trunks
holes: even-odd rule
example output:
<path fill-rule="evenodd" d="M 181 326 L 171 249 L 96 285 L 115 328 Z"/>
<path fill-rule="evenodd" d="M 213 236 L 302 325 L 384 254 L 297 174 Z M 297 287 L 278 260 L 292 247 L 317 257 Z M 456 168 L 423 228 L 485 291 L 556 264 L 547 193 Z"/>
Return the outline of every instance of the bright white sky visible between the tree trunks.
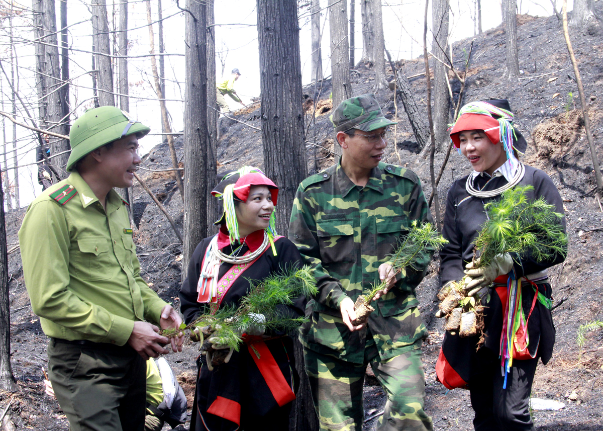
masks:
<path fill-rule="evenodd" d="M 55 0 L 58 4 L 59 0 Z M 115 10 L 119 0 L 113 0 Z M 69 44 L 72 48 L 90 50 L 92 46 L 92 26 L 90 25 L 88 2 L 83 0 L 69 0 L 68 24 Z M 107 0 L 109 15 L 111 16 L 112 2 Z M 430 2 L 431 3 L 431 2 Z M 552 14 L 552 6 L 549 0 L 517 0 L 520 13 L 528 13 L 535 16 L 548 16 Z M 561 4 L 560 1 L 558 1 Z M 185 0 L 180 1 L 181 5 Z M 569 1 L 568 8 L 571 10 L 573 1 Z M 30 3 L 25 5 L 29 7 Z M 327 0 L 321 0 L 321 7 L 326 8 Z M 185 40 L 185 17 L 175 5 L 173 0 L 163 0 L 163 18 L 172 16 L 164 21 L 163 31 L 165 36 L 165 51 L 171 54 L 184 54 Z M 152 2 L 153 19 L 157 19 L 157 2 Z M 349 4 L 348 4 L 349 7 Z M 474 1 L 473 0 L 450 0 L 452 13 L 450 14 L 450 39 L 454 42 L 465 37 L 473 36 L 475 24 L 473 20 Z M 559 8 L 561 6 L 558 6 Z M 128 39 L 130 48 L 128 54 L 131 56 L 148 54 L 148 28 L 146 6 L 144 1 L 130 1 L 128 5 Z M 323 28 L 322 46 L 323 46 L 323 71 L 324 77 L 330 75 L 329 63 L 329 27 L 327 11 L 321 11 L 321 28 Z M 383 19 L 385 46 L 390 51 L 394 59 L 411 59 L 422 53 L 423 40 L 423 17 L 425 13 L 424 0 L 383 0 Z M 26 13 L 31 16 L 30 13 Z M 229 0 L 215 2 L 215 22 L 216 26 L 216 53 L 222 51 L 226 54 L 224 60 L 224 70 L 229 74 L 233 68 L 241 71 L 241 78 L 236 83 L 236 89 L 245 103 L 250 102 L 251 97 L 259 96 L 260 77 L 259 77 L 259 54 L 257 48 L 257 30 L 255 27 L 257 18 L 256 2 L 252 0 Z M 111 20 L 112 18 L 110 18 Z M 325 22 L 326 21 L 326 22 Z M 362 54 L 362 34 L 361 34 L 361 14 L 360 5 L 356 0 L 355 17 L 355 57 L 358 61 Z M 482 28 L 496 27 L 500 24 L 500 1 L 482 0 Z M 15 33 L 23 43 L 17 46 L 19 76 L 19 94 L 24 100 L 36 100 L 36 91 L 34 88 L 34 48 L 31 43 L 25 43 L 25 39 L 33 39 L 33 34 L 28 30 L 28 21 L 25 19 L 15 19 L 13 25 L 16 27 Z M 79 24 L 77 24 L 79 23 Z M 242 24 L 242 25 L 229 25 Z M 22 26 L 22 27 L 17 27 Z M 4 34 L 8 32 L 8 21 L 4 21 Z M 58 27 L 58 26 L 57 26 Z M 113 25 L 110 24 L 112 28 Z M 429 27 L 431 27 L 431 10 L 429 11 Z M 300 11 L 300 52 L 302 80 L 304 84 L 309 83 L 311 75 L 311 47 L 310 47 L 310 19 L 308 10 Z M 156 53 L 159 52 L 157 43 L 157 25 L 154 25 Z M 431 40 L 431 34 L 428 41 Z M 4 35 L 0 39 L 0 59 L 2 65 L 10 74 L 10 58 L 7 52 L 7 37 Z M 428 42 L 429 43 L 429 42 Z M 226 52 L 227 51 L 227 52 Z M 71 105 L 78 106 L 77 117 L 83 113 L 84 109 L 92 107 L 92 79 L 87 71 L 91 69 L 91 58 L 89 54 L 72 51 L 70 63 L 70 76 L 74 79 L 74 86 L 71 89 Z M 222 65 L 216 59 L 216 70 L 218 78 L 221 75 Z M 183 102 L 184 99 L 184 76 L 185 76 L 185 57 L 166 56 L 166 98 L 174 99 L 167 102 L 168 110 L 171 115 L 172 130 L 180 131 L 183 129 Z M 1 73 L 1 72 L 0 72 Z M 130 95 L 151 100 L 130 98 L 130 113 L 137 120 L 147 124 L 153 132 L 161 131 L 161 118 L 159 103 L 153 100 L 155 97 L 154 83 L 151 76 L 150 59 L 137 58 L 128 62 L 128 74 L 130 79 Z M 2 92 L 9 94 L 8 84 L 3 75 L 0 75 L 2 81 Z M 2 110 L 10 112 L 10 100 L 7 96 L 3 97 L 4 106 Z M 227 100 L 229 98 L 227 97 Z M 17 113 L 21 111 L 17 101 Z M 233 103 L 233 109 L 240 105 Z M 30 108 L 30 112 L 36 115 L 36 111 Z M 36 113 L 34 113 L 36 112 Z M 72 121 L 75 117 L 72 117 Z M 19 120 L 23 121 L 22 118 Z M 12 141 L 11 123 L 5 121 L 5 141 Z M 150 135 L 140 141 L 140 153 L 144 154 L 154 145 L 160 142 L 161 137 Z M 31 164 L 35 161 L 35 145 L 33 135 L 22 128 L 17 128 L 17 150 L 19 156 L 19 165 Z M 10 144 L 9 144 L 10 145 Z M 9 156 L 10 159 L 12 155 Z M 2 165 L 4 161 L 2 160 Z M 9 161 L 9 167 L 10 167 Z M 40 193 L 41 186 L 37 184 L 37 167 L 26 166 L 20 168 L 20 197 L 21 205 L 27 205 L 33 200 L 34 195 Z M 13 176 L 13 171 L 10 171 Z"/>

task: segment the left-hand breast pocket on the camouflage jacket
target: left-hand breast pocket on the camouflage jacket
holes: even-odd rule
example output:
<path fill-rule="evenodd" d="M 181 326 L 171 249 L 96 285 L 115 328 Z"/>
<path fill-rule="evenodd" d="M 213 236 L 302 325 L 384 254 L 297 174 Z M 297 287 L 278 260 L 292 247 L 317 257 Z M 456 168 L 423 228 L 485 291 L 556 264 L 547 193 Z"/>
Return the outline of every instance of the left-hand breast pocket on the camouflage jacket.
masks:
<path fill-rule="evenodd" d="M 325 220 L 317 223 L 320 260 L 323 264 L 356 261 L 352 220 Z"/>

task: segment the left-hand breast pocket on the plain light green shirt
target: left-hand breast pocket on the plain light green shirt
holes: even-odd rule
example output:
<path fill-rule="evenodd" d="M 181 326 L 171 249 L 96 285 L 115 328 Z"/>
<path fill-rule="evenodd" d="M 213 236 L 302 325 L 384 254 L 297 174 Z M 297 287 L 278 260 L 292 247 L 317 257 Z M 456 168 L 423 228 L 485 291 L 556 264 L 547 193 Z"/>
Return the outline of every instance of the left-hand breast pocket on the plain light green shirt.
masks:
<path fill-rule="evenodd" d="M 111 276 L 109 241 L 105 237 L 79 238 L 72 258 L 75 273 L 83 280 L 106 280 Z"/>

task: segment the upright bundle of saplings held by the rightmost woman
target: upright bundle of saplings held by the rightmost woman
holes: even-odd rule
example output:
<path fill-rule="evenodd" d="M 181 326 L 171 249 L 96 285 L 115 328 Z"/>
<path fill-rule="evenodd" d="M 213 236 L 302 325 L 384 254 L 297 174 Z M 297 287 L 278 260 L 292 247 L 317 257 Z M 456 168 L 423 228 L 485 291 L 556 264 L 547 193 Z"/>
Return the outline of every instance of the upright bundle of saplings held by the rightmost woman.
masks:
<path fill-rule="evenodd" d="M 479 268 L 494 257 L 504 254 L 531 255 L 541 262 L 555 255 L 566 255 L 567 235 L 555 206 L 543 198 L 528 199 L 531 185 L 514 187 L 502 193 L 499 201 L 484 205 L 488 220 L 482 225 L 475 240 L 473 259 L 469 267 Z M 473 336 L 483 329 L 482 299 L 490 300 L 489 289 L 478 287 L 466 293 L 468 276 L 460 281 L 450 281 L 438 293 L 438 317 L 446 316 L 444 329 L 461 337 Z"/>

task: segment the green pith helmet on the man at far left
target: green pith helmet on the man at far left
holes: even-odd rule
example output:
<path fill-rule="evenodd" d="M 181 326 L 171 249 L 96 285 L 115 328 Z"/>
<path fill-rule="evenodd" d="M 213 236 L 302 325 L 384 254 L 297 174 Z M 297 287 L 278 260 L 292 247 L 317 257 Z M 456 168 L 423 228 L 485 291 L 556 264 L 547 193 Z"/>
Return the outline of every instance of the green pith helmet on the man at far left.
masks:
<path fill-rule="evenodd" d="M 71 155 L 67 161 L 67 171 L 71 172 L 80 159 L 96 148 L 134 133 L 137 138 L 142 138 L 150 131 L 150 127 L 133 120 L 130 114 L 115 106 L 86 109 L 69 131 Z"/>

